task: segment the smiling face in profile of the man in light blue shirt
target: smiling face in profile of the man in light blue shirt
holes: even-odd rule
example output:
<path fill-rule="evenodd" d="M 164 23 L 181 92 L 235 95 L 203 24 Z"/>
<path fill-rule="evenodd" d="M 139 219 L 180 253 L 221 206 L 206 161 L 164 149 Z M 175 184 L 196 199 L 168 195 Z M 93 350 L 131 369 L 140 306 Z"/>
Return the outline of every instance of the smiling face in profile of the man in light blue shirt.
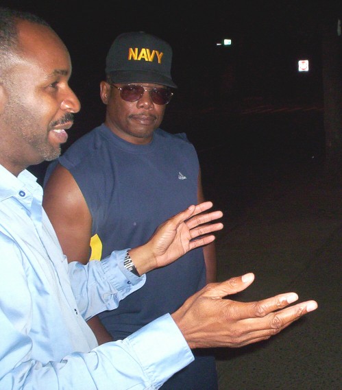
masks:
<path fill-rule="evenodd" d="M 1 163 L 17 174 L 31 164 L 53 160 L 67 140 L 80 102 L 69 87 L 71 61 L 49 28 L 19 22 L 19 61 L 8 71 L 1 137 L 7 145 Z M 3 144 L 4 145 L 4 144 Z"/>

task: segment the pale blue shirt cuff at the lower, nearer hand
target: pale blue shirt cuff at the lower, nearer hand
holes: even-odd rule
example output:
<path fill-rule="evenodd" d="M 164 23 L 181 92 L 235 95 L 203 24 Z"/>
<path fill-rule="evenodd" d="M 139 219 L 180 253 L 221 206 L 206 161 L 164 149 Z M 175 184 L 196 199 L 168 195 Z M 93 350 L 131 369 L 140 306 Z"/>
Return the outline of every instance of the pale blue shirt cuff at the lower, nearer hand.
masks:
<path fill-rule="evenodd" d="M 141 367 L 157 388 L 194 360 L 182 332 L 168 313 L 128 336 Z"/>

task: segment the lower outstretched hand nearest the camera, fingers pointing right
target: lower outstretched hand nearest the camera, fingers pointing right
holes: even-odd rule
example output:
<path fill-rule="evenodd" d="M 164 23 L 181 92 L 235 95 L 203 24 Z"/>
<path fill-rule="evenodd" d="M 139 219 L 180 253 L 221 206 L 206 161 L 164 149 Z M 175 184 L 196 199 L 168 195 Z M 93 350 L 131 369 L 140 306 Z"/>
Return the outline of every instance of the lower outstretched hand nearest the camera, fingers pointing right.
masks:
<path fill-rule="evenodd" d="M 227 295 L 246 289 L 254 274 L 207 284 L 172 314 L 190 348 L 230 347 L 269 339 L 317 308 L 307 301 L 295 306 L 296 293 L 284 293 L 258 302 L 236 302 Z M 289 307 L 286 307 L 289 306 Z"/>

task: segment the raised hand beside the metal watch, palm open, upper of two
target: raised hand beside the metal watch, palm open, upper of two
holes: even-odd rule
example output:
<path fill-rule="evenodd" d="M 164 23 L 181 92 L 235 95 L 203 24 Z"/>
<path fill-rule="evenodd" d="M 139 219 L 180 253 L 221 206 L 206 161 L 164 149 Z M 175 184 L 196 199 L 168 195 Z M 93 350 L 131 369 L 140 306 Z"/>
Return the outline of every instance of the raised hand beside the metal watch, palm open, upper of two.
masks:
<path fill-rule="evenodd" d="M 210 234 L 221 230 L 222 223 L 210 223 L 222 217 L 221 211 L 205 212 L 212 202 L 190 206 L 162 223 L 141 247 L 130 249 L 130 256 L 140 274 L 163 267 L 196 247 L 215 240 Z M 201 214 L 203 213 L 204 214 Z"/>

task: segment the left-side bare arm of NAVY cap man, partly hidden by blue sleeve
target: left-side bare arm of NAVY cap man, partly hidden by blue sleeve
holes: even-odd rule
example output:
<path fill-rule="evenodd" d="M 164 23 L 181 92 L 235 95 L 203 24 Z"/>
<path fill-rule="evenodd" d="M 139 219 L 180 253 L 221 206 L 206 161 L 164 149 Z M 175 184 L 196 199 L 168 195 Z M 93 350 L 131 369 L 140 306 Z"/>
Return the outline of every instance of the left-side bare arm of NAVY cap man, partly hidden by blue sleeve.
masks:
<path fill-rule="evenodd" d="M 56 230 L 68 261 L 88 263 L 92 218 L 73 175 L 58 164 L 44 188 L 42 206 Z M 88 321 L 99 344 L 112 337 L 97 316 Z"/>

